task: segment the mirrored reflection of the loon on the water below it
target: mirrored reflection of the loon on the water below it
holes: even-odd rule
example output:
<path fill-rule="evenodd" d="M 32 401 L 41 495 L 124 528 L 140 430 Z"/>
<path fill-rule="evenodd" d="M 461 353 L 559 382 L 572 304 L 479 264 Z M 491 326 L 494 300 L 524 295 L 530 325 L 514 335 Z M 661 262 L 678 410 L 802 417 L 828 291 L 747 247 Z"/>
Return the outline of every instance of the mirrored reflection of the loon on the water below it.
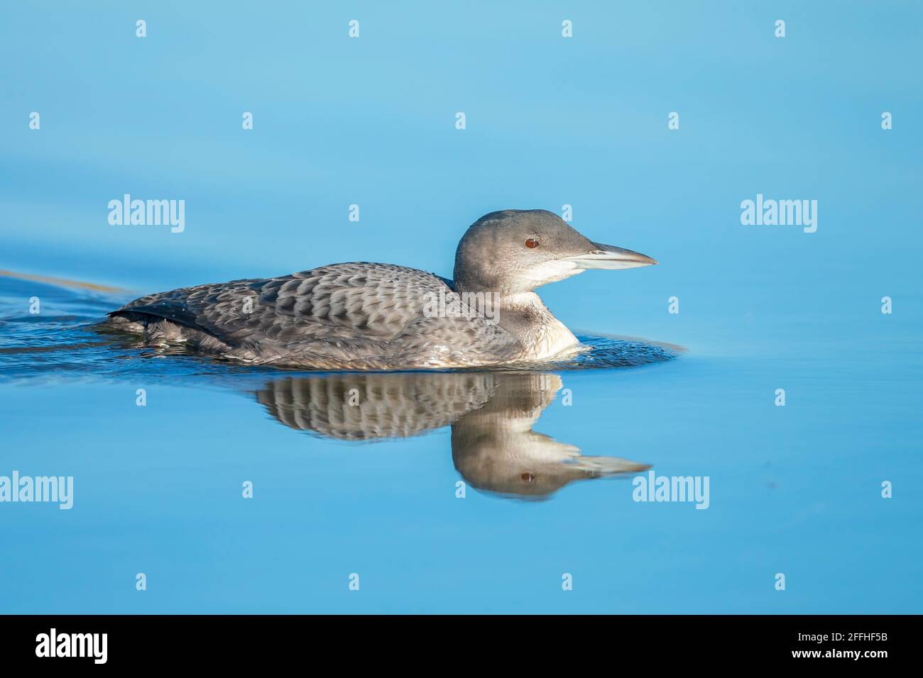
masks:
<path fill-rule="evenodd" d="M 271 381 L 257 392 L 291 428 L 367 441 L 451 426 L 452 461 L 469 485 L 542 498 L 569 482 L 646 470 L 532 430 L 562 386 L 545 373 L 340 374 Z"/>

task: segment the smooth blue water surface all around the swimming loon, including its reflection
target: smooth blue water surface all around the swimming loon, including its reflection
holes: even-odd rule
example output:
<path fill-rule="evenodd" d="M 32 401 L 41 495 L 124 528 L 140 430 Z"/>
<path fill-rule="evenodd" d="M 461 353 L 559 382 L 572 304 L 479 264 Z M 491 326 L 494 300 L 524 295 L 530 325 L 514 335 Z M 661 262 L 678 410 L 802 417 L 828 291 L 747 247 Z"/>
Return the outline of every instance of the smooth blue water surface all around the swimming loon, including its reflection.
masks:
<path fill-rule="evenodd" d="M 0 503 L 0 613 L 923 612 L 917 4 L 0 11 L 0 476 L 75 482 Z M 185 231 L 111 225 L 126 193 Z M 817 231 L 742 225 L 757 194 Z M 450 276 L 481 215 L 564 205 L 660 261 L 539 291 L 601 364 L 385 381 L 92 329 L 337 261 Z M 709 507 L 633 501 L 648 467 Z"/>

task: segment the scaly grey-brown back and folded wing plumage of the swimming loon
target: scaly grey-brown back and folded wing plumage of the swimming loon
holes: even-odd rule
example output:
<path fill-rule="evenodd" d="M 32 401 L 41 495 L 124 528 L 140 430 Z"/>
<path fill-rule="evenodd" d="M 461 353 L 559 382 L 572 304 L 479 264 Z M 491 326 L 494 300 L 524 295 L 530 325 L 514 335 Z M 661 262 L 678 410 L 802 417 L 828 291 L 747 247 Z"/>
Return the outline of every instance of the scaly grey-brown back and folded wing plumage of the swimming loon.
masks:
<path fill-rule="evenodd" d="M 405 359 L 420 364 L 421 353 L 481 344 L 502 351 L 511 343 L 505 330 L 481 318 L 427 318 L 433 295 L 454 295 L 448 283 L 415 268 L 334 264 L 150 294 L 114 315 L 167 318 L 219 339 L 246 360 L 332 369 L 401 367 Z"/>

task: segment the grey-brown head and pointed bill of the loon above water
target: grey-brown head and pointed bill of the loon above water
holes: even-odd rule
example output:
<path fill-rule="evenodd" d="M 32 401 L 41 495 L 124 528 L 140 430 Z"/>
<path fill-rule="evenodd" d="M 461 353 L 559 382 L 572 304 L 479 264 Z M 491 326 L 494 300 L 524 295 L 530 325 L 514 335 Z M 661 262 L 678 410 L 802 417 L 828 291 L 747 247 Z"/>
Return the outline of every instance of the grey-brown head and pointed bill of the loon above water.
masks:
<path fill-rule="evenodd" d="M 587 268 L 637 268 L 650 256 L 593 241 L 545 209 L 505 209 L 475 221 L 455 253 L 455 286 L 518 293 Z"/>

